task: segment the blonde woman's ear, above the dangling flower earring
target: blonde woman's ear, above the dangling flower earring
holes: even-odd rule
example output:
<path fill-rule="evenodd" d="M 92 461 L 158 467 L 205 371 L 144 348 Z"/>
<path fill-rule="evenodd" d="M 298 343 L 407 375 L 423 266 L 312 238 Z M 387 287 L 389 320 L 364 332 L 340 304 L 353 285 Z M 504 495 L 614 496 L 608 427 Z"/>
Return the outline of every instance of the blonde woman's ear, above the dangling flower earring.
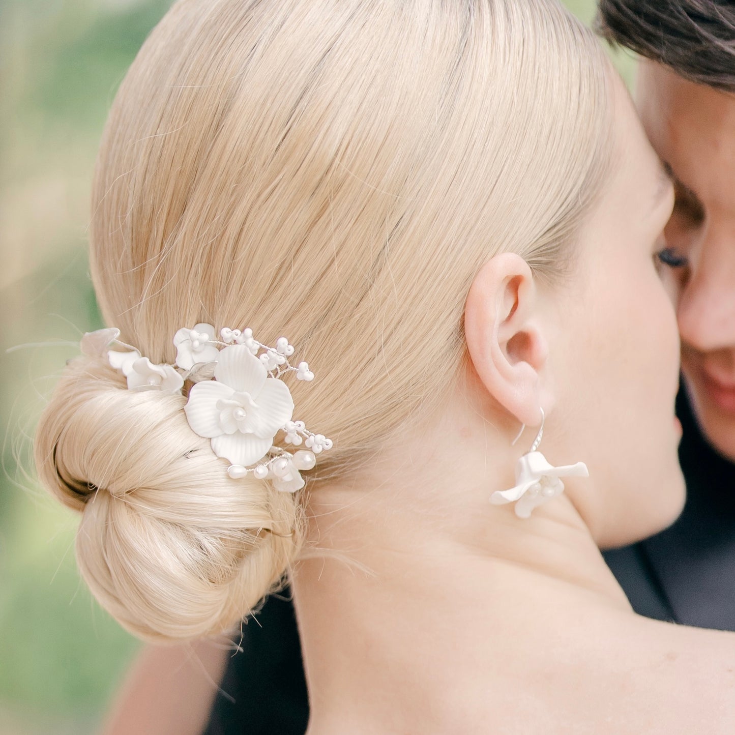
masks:
<path fill-rule="evenodd" d="M 548 345 L 537 320 L 537 287 L 528 263 L 501 253 L 478 271 L 465 304 L 465 337 L 490 395 L 517 420 L 539 423 L 539 372 Z"/>

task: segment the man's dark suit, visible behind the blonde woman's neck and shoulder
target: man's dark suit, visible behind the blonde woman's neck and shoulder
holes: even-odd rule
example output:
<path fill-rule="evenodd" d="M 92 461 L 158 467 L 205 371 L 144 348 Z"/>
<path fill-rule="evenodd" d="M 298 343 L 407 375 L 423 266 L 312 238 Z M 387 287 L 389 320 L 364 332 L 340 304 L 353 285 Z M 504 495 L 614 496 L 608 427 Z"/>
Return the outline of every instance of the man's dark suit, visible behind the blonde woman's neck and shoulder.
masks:
<path fill-rule="evenodd" d="M 666 531 L 604 554 L 636 612 L 735 631 L 735 465 L 700 435 L 682 395 L 687 500 Z M 284 593 L 287 595 L 287 592 Z M 257 624 L 259 623 L 259 625 Z M 304 735 L 309 719 L 293 606 L 272 597 L 243 628 L 203 735 Z"/>

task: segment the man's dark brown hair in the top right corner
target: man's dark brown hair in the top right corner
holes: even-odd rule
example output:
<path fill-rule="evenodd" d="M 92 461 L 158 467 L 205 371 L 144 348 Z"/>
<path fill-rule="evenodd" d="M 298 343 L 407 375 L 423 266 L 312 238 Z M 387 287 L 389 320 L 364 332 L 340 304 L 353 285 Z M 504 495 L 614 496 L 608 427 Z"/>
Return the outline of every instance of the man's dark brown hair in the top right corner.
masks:
<path fill-rule="evenodd" d="M 735 3 L 600 0 L 596 29 L 691 82 L 735 92 Z"/>

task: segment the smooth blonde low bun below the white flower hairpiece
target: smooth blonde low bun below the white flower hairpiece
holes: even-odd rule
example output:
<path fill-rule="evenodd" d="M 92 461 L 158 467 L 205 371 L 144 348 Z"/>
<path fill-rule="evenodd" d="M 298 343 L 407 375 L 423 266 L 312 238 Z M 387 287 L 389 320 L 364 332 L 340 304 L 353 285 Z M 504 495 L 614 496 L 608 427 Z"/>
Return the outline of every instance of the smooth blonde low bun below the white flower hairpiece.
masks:
<path fill-rule="evenodd" d="M 101 605 L 156 642 L 230 631 L 298 553 L 295 496 L 232 480 L 182 395 L 127 390 L 104 358 L 69 363 L 40 418 L 42 483 L 82 513 L 76 558 Z"/>

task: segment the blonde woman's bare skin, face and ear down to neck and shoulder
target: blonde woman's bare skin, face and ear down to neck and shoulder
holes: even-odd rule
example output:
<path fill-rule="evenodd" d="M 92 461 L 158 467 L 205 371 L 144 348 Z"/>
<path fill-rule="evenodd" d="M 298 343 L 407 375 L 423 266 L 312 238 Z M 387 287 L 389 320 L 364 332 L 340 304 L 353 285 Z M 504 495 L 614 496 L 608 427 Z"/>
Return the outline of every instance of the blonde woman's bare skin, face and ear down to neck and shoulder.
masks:
<path fill-rule="evenodd" d="M 735 636 L 638 617 L 598 549 L 666 526 L 684 498 L 656 266 L 673 190 L 620 82 L 616 128 L 573 276 L 544 287 L 512 254 L 487 262 L 467 296 L 467 387 L 312 495 L 324 558 L 293 581 L 309 735 L 735 728 Z M 542 451 L 590 478 L 520 520 L 488 499 L 514 484 L 512 440 L 539 406 Z"/>

